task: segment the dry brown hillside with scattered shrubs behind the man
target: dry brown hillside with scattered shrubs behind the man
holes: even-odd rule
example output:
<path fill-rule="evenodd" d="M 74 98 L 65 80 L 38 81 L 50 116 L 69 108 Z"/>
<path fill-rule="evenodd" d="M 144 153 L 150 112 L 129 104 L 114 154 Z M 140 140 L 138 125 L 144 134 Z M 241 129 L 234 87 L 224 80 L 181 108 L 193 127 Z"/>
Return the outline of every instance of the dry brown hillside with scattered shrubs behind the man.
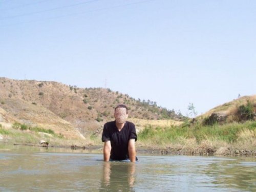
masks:
<path fill-rule="evenodd" d="M 183 120 L 181 114 L 102 88 L 77 88 L 53 81 L 0 78 L 0 122 L 52 129 L 65 137 L 82 137 L 112 120 L 119 103 L 136 119 Z M 82 135 L 81 135 L 81 134 Z"/>

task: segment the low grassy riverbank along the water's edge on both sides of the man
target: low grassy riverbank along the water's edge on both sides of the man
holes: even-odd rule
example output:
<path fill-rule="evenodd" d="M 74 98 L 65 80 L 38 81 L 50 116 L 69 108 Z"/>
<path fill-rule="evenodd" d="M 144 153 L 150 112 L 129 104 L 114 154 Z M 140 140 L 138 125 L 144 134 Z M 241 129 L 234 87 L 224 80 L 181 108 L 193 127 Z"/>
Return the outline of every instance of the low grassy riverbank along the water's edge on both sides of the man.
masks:
<path fill-rule="evenodd" d="M 47 132 L 47 133 L 46 133 Z M 48 145 L 42 143 L 45 140 Z M 68 139 L 51 130 L 21 130 L 0 127 L 0 145 L 59 147 L 102 153 L 101 134 L 85 139 Z M 183 124 L 180 126 L 146 126 L 138 133 L 138 154 L 199 155 L 199 156 L 256 156 L 256 122 L 215 124 Z"/>

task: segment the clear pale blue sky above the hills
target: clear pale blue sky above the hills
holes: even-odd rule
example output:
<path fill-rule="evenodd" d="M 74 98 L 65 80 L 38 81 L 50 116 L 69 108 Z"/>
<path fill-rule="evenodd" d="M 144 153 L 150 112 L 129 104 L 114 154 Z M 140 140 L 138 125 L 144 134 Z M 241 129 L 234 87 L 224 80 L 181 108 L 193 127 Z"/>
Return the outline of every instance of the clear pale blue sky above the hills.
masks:
<path fill-rule="evenodd" d="M 256 94 L 256 1 L 0 0 L 0 77 L 188 115 Z"/>

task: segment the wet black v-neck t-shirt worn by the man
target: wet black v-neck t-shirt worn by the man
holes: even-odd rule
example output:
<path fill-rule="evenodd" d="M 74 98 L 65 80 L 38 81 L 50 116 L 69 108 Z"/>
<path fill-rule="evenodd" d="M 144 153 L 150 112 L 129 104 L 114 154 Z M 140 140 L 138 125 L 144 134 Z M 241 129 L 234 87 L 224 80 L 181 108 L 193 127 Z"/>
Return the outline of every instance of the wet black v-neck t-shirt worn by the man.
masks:
<path fill-rule="evenodd" d="M 135 125 L 132 122 L 126 121 L 120 132 L 116 127 L 116 121 L 104 124 L 101 140 L 102 142 L 110 141 L 111 159 L 124 160 L 129 158 L 128 143 L 130 139 L 137 140 Z"/>

